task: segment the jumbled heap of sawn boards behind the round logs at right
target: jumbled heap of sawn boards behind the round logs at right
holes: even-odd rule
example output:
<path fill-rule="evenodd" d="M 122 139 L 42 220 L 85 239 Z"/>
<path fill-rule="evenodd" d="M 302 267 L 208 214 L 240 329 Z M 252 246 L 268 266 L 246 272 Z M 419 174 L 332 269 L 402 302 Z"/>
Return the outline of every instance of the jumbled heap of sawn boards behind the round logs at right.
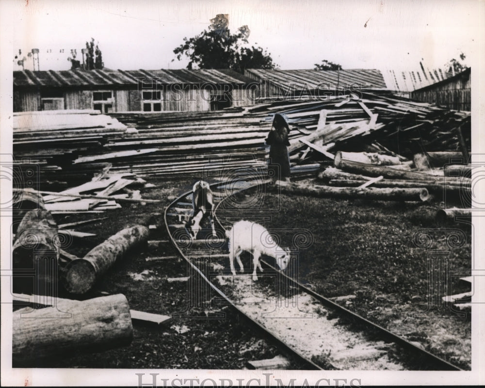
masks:
<path fill-rule="evenodd" d="M 388 93 L 359 94 L 268 102 L 247 111 L 284 114 L 293 130 L 306 135 L 307 139 L 301 139 L 332 154 L 388 151 L 412 158 L 419 152 L 470 148 L 470 112 L 442 109 Z M 290 141 L 292 151 L 307 147 L 301 139 Z"/>

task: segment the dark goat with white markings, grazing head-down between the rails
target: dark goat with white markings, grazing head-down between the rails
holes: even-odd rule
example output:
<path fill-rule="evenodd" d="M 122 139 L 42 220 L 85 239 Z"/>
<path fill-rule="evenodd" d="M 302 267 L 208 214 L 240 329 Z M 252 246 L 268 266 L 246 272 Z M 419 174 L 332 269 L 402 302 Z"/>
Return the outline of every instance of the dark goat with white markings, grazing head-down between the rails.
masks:
<path fill-rule="evenodd" d="M 190 235 L 191 239 L 195 239 L 197 233 L 202 229 L 202 222 L 206 217 L 210 220 L 210 227 L 212 229 L 212 235 L 215 236 L 214 227 L 214 195 L 210 189 L 210 185 L 205 181 L 195 182 L 192 187 L 192 206 L 194 212 L 192 217 L 189 218 L 185 224 L 185 229 Z"/>

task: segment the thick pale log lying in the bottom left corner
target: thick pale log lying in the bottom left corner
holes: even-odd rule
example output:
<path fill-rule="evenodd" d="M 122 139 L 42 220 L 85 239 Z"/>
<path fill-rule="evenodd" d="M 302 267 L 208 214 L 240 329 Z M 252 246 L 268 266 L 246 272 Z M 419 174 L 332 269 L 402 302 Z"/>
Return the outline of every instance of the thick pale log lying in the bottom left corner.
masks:
<path fill-rule="evenodd" d="M 13 312 L 12 361 L 19 367 L 79 351 L 104 351 L 126 346 L 132 337 L 125 295 L 84 301 L 57 299 L 53 307 Z"/>

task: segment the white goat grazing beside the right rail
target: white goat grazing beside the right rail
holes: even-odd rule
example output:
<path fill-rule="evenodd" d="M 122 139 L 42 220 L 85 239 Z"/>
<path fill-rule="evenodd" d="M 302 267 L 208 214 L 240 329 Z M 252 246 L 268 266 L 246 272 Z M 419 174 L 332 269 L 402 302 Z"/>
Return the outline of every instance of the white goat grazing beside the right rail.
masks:
<path fill-rule="evenodd" d="M 239 257 L 244 250 L 253 254 L 253 280 L 258 280 L 256 268 L 258 267 L 260 271 L 263 270 L 259 262 L 261 254 L 275 258 L 276 264 L 282 270 L 286 268 L 290 261 L 290 250 L 285 251 L 280 248 L 269 232 L 255 222 L 238 221 L 230 231 L 226 231 L 226 236 L 229 238 L 229 264 L 233 275 L 236 275 L 234 257 L 238 261 L 241 272 L 244 271 Z"/>

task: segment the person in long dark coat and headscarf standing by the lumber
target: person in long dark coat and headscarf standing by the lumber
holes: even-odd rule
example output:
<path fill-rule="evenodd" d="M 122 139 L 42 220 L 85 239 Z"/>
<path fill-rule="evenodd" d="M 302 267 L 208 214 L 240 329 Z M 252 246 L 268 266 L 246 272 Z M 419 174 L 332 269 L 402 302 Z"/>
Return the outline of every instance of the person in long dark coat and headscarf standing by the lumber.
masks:
<path fill-rule="evenodd" d="M 290 128 L 285 118 L 276 113 L 273 125 L 266 138 L 266 144 L 270 146 L 270 164 L 268 175 L 277 180 L 290 180 L 290 157 L 287 146 Z"/>

